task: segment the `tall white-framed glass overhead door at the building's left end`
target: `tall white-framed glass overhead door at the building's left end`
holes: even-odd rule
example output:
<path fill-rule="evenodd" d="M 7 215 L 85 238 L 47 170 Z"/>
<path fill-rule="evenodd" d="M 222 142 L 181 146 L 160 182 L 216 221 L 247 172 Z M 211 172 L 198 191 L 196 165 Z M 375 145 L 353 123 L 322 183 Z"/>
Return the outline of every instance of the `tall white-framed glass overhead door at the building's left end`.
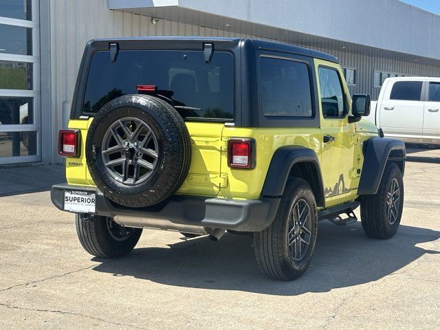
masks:
<path fill-rule="evenodd" d="M 0 8 L 0 165 L 40 162 L 39 1 Z"/>

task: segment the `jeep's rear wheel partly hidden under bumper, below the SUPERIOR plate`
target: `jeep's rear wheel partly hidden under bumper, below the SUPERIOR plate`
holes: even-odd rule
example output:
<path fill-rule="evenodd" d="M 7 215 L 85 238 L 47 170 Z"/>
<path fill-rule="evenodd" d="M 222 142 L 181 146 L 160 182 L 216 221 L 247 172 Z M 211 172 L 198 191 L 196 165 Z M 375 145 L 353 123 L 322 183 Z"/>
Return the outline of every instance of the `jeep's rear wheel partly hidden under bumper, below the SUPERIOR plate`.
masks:
<path fill-rule="evenodd" d="M 118 258 L 129 254 L 140 239 L 142 229 L 122 227 L 111 217 L 75 215 L 76 234 L 84 250 L 101 258 Z"/>

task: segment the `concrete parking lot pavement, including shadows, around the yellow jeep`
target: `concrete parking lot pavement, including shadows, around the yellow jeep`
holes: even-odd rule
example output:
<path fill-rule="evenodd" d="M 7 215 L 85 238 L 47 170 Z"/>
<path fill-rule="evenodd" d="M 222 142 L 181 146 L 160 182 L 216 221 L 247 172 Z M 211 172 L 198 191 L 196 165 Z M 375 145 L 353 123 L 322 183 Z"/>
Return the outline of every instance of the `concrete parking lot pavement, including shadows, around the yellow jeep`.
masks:
<path fill-rule="evenodd" d="M 126 258 L 93 258 L 72 214 L 31 192 L 61 166 L 1 169 L 0 329 L 439 329 L 440 150 L 410 155 L 397 235 L 321 222 L 311 267 L 290 283 L 265 278 L 233 234 L 144 230 Z"/>

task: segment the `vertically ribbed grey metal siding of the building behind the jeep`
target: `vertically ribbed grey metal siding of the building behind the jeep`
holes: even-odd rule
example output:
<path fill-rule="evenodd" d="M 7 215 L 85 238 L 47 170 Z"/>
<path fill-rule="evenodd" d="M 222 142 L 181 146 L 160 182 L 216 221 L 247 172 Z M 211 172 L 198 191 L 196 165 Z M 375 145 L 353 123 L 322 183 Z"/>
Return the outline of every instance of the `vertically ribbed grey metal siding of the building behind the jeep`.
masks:
<path fill-rule="evenodd" d="M 50 1 L 50 50 L 52 62 L 52 154 L 53 162 L 61 162 L 56 156 L 56 132 L 61 129 L 65 118 L 61 109 L 63 103 L 71 104 L 78 66 L 85 43 L 93 38 L 111 38 L 122 36 L 232 36 L 252 37 L 249 34 L 226 32 L 197 25 L 159 20 L 151 23 L 150 17 L 128 12 L 107 9 L 107 0 L 52 0 Z M 261 38 L 260 39 L 264 39 Z M 268 39 L 270 40 L 270 39 Z M 357 68 L 357 85 L 350 87 L 351 93 L 371 94 L 377 98 L 379 89 L 373 87 L 375 69 L 399 74 L 440 76 L 440 67 L 417 65 L 380 57 L 366 56 L 331 50 L 328 41 L 313 46 L 307 45 L 307 39 L 300 44 L 322 52 L 329 52 L 340 59 L 341 65 Z M 44 68 L 42 68 L 44 69 Z"/>

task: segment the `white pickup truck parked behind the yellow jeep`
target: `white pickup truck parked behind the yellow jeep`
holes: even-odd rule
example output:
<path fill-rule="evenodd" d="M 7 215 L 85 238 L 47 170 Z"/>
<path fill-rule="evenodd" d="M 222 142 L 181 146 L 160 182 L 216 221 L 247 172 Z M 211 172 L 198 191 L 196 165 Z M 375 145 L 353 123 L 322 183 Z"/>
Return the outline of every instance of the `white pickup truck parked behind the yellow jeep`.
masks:
<path fill-rule="evenodd" d="M 384 135 L 412 143 L 440 144 L 440 78 L 387 78 L 366 120 Z"/>

